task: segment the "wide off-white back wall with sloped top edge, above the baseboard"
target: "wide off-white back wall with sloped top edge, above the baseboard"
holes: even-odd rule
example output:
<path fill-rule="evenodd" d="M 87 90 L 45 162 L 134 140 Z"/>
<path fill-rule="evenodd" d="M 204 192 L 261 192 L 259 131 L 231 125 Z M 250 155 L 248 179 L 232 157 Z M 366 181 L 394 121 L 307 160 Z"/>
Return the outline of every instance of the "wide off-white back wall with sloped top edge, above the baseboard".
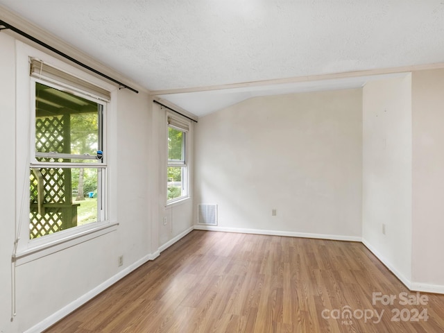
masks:
<path fill-rule="evenodd" d="M 360 239 L 361 104 L 361 89 L 348 89 L 200 117 L 194 203 L 219 205 L 225 229 Z"/>

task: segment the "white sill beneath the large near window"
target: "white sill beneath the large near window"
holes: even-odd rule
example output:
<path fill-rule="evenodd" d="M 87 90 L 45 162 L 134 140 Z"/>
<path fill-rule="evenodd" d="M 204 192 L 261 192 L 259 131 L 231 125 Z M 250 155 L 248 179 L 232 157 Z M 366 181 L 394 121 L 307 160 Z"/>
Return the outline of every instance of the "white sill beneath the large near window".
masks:
<path fill-rule="evenodd" d="M 65 248 L 70 248 L 71 246 L 89 241 L 103 234 L 113 232 L 117 230 L 117 225 L 119 225 L 117 222 L 102 222 L 99 225 L 95 225 L 94 228 L 84 228 L 83 230 L 77 230 L 75 233 L 67 232 L 64 236 L 58 233 L 48 236 L 53 239 L 45 239 L 45 237 L 35 239 L 28 243 L 28 248 L 17 251 L 15 254 L 15 262 L 17 266 L 32 262 L 46 255 L 51 255 L 52 253 L 65 250 Z M 74 229 L 66 231 L 72 232 Z"/>

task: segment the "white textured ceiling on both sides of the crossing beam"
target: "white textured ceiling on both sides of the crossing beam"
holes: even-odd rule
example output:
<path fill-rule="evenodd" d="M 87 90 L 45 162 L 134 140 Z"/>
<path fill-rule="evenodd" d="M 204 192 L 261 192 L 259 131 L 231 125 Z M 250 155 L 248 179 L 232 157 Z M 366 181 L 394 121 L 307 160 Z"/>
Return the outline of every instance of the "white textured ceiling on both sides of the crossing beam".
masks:
<path fill-rule="evenodd" d="M 362 85 L 365 79 L 212 92 L 196 92 L 198 87 L 444 62 L 443 0 L 0 0 L 0 4 L 135 83 L 167 91 L 163 99 L 196 115 L 250 96 L 343 89 Z M 183 88 L 193 92 L 168 92 Z"/>

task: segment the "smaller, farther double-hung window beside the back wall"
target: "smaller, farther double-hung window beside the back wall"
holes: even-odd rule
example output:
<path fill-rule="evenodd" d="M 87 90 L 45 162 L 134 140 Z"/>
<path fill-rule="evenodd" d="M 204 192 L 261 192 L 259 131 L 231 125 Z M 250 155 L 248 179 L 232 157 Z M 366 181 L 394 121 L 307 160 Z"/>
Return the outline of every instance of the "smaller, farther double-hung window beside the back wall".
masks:
<path fill-rule="evenodd" d="M 187 132 L 189 123 L 168 116 L 167 200 L 169 203 L 186 198 Z"/>

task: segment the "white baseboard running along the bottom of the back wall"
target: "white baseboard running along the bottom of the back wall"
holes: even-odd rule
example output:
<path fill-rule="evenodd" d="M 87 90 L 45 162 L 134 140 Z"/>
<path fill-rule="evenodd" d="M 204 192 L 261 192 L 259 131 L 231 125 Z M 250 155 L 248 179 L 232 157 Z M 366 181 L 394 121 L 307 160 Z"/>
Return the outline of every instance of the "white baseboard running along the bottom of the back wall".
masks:
<path fill-rule="evenodd" d="M 196 230 L 223 231 L 223 232 L 239 232 L 242 234 L 268 234 L 271 236 L 288 236 L 302 238 L 329 239 L 333 241 L 361 241 L 358 236 L 345 236 L 341 234 L 311 234 L 307 232 L 277 231 L 277 230 L 261 230 L 261 229 L 244 229 L 244 228 L 225 228 L 216 225 L 194 225 Z"/>

